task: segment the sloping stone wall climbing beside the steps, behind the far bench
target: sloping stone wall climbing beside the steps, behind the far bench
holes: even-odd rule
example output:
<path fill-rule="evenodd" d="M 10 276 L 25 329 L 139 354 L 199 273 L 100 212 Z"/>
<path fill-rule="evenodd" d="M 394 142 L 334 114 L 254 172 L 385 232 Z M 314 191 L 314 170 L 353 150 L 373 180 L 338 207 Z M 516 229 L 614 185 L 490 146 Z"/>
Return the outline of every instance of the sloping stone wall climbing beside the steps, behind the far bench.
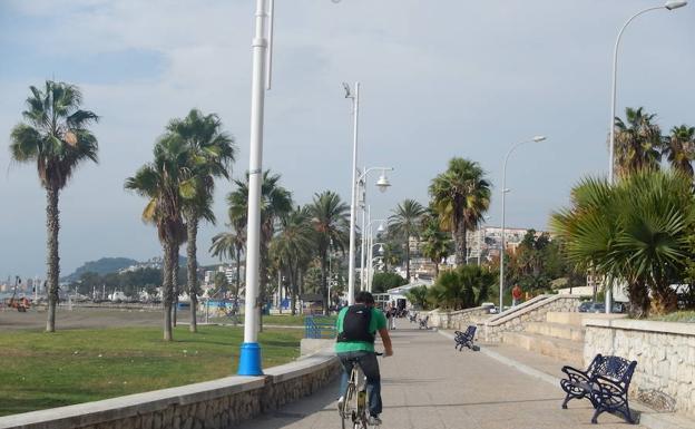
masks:
<path fill-rule="evenodd" d="M 481 338 L 489 342 L 500 342 L 503 332 L 523 331 L 528 322 L 545 322 L 548 312 L 576 312 L 579 300 L 579 295 L 537 296 L 486 321 Z"/>

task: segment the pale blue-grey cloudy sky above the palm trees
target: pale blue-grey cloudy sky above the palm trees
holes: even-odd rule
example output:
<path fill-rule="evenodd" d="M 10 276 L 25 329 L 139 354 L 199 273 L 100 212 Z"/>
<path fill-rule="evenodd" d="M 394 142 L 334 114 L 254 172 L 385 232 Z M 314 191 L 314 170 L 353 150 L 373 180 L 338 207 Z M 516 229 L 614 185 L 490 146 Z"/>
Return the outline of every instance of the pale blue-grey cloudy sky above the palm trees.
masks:
<path fill-rule="evenodd" d="M 296 204 L 315 193 L 350 199 L 351 104 L 361 82 L 360 166 L 392 166 L 381 194 L 370 176 L 372 218 L 428 186 L 451 157 L 480 163 L 493 184 L 489 225 L 547 228 L 587 175 L 607 174 L 610 67 L 619 28 L 654 0 L 276 0 L 273 89 L 266 96 L 264 168 Z M 43 276 L 46 193 L 36 166 L 8 145 L 29 86 L 79 86 L 99 164 L 85 164 L 60 195 L 61 275 L 102 256 L 161 253 L 140 220 L 145 199 L 124 181 L 153 158 L 167 121 L 192 108 L 216 113 L 248 166 L 253 0 L 0 0 L 0 279 Z M 637 18 L 619 53 L 618 113 L 644 106 L 664 130 L 695 125 L 695 4 Z M 202 263 L 225 230 L 198 235 Z"/>

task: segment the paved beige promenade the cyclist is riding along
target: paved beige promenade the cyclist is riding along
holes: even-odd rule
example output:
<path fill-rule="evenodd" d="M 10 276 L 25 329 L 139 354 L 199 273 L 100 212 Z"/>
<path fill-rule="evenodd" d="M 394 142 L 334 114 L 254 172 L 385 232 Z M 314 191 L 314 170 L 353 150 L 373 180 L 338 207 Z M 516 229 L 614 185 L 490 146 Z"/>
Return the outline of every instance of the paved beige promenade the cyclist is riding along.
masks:
<path fill-rule="evenodd" d="M 560 409 L 561 389 L 501 364 L 481 352 L 453 349 L 453 341 L 399 321 L 392 332 L 395 355 L 380 359 L 383 429 L 564 429 L 642 428 L 601 415 L 590 425 L 588 401 Z M 484 347 L 484 345 L 483 345 Z M 244 429 L 340 428 L 337 383 Z M 572 403 L 574 402 L 574 403 Z"/>

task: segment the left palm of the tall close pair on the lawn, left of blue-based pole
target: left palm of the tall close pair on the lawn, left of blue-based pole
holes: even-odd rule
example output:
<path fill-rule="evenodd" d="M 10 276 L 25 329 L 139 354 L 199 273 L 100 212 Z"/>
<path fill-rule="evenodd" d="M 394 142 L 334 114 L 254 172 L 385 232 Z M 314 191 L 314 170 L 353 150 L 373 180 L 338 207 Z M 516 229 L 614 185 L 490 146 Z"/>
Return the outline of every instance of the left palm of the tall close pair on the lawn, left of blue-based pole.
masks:
<path fill-rule="evenodd" d="M 155 160 L 128 177 L 125 188 L 148 198 L 143 220 L 157 226 L 164 251 L 163 301 L 164 340 L 172 341 L 172 310 L 178 269 L 178 250 L 186 241 L 182 211 L 186 202 L 195 201 L 200 189 L 199 178 L 190 174 L 192 152 L 176 135 L 165 135 L 155 145 Z"/>

